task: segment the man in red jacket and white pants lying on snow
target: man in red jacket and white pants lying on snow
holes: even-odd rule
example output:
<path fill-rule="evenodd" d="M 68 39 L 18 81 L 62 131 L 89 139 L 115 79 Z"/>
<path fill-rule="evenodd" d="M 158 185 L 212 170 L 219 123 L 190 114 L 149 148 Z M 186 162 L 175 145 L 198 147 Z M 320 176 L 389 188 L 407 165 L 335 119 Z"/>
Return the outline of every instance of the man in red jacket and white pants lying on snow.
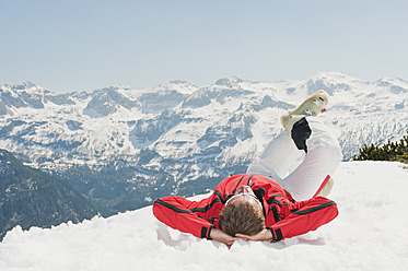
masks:
<path fill-rule="evenodd" d="M 237 238 L 279 241 L 334 220 L 337 205 L 325 198 L 341 161 L 340 146 L 316 118 L 328 95 L 318 91 L 281 117 L 282 131 L 247 174 L 222 180 L 207 199 L 165 197 L 153 204 L 164 224 L 231 246 Z"/>

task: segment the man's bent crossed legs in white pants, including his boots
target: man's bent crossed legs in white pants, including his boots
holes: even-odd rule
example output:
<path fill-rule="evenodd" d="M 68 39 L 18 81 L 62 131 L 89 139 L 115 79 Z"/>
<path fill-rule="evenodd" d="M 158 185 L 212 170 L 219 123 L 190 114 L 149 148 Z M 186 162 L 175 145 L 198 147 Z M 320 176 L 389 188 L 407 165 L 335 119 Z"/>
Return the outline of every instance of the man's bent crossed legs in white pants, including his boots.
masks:
<path fill-rule="evenodd" d="M 269 143 L 247 173 L 270 177 L 295 200 L 310 199 L 317 192 L 327 195 L 333 186 L 330 176 L 342 156 L 337 139 L 315 118 L 326 110 L 328 94 L 318 91 L 283 115 L 287 132 Z"/>

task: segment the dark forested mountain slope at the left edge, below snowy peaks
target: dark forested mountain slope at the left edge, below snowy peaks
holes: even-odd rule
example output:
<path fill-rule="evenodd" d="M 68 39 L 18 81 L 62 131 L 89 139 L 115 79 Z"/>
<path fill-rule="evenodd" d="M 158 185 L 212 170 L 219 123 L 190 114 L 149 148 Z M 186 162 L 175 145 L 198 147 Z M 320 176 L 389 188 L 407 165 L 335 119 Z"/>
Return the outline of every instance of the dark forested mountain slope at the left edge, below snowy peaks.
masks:
<path fill-rule="evenodd" d="M 0 240 L 20 225 L 50 227 L 92 219 L 96 210 L 68 181 L 24 166 L 0 150 Z"/>

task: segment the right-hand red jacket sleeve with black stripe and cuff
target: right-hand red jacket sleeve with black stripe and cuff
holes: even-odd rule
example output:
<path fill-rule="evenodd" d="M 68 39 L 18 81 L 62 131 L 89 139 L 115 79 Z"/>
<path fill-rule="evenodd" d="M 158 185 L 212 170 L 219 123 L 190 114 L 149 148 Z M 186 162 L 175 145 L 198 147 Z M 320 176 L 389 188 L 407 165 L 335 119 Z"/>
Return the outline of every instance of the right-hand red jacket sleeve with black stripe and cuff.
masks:
<path fill-rule="evenodd" d="M 289 214 L 268 227 L 275 241 L 315 231 L 338 215 L 336 202 L 324 197 L 299 201 L 288 208 Z"/>

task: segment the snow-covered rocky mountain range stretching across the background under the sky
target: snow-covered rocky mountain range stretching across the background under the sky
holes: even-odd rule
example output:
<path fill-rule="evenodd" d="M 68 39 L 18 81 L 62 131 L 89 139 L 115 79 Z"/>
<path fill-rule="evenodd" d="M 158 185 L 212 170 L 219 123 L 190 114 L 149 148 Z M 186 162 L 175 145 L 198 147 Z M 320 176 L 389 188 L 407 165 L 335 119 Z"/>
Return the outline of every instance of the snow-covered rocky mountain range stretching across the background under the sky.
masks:
<path fill-rule="evenodd" d="M 318 90 L 322 118 L 345 160 L 364 143 L 408 130 L 408 82 L 364 82 L 339 72 L 308 80 L 172 81 L 137 90 L 110 86 L 58 94 L 33 83 L 0 85 L 0 149 L 69 180 L 105 214 L 164 195 L 202 193 L 250 161 L 281 129 L 279 117 Z"/>

